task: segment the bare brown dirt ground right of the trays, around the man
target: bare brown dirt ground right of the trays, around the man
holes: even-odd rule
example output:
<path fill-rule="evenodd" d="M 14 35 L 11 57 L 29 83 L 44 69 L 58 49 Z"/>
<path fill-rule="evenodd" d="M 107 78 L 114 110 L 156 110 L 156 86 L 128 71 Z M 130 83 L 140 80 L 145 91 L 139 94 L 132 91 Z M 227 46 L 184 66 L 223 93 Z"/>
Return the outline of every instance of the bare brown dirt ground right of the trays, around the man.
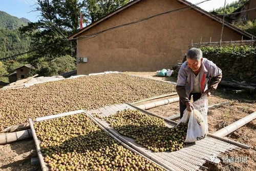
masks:
<path fill-rule="evenodd" d="M 174 82 L 177 81 L 176 78 L 161 78 L 157 77 L 155 72 L 133 72 L 128 73 L 133 75 L 138 75 L 141 77 L 152 78 L 155 80 L 172 80 Z M 139 104 L 150 103 L 153 101 L 173 98 L 177 96 L 146 101 Z M 214 133 L 215 131 L 233 123 L 237 120 L 249 115 L 256 111 L 256 95 L 255 94 L 230 94 L 224 92 L 224 87 L 219 86 L 218 89 L 211 94 L 208 99 L 209 105 L 221 103 L 221 102 L 229 102 L 229 104 L 216 108 L 209 109 L 208 111 L 208 127 L 209 132 Z M 148 111 L 153 112 L 162 117 L 169 117 L 176 115 L 179 113 L 179 102 L 155 107 L 152 109 L 148 109 Z M 177 122 L 179 119 L 176 120 Z M 240 151 L 233 151 L 230 153 L 221 154 L 221 163 L 212 164 L 205 163 L 205 166 L 208 167 L 208 170 L 225 170 L 225 171 L 233 171 L 233 170 L 256 170 L 256 120 L 253 120 L 246 124 L 245 126 L 237 129 L 232 132 L 226 138 L 229 138 L 233 141 L 237 141 L 250 146 L 250 149 L 241 149 Z M 223 159 L 247 159 L 247 162 L 223 162 Z"/>

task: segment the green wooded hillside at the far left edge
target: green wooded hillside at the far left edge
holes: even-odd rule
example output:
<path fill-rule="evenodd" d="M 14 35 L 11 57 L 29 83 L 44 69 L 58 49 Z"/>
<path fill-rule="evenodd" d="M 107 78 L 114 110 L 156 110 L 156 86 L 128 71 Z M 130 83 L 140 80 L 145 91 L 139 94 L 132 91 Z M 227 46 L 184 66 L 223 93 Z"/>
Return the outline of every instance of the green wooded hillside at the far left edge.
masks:
<path fill-rule="evenodd" d="M 28 22 L 30 21 L 27 18 L 19 19 L 0 11 L 0 59 L 26 52 L 30 49 L 31 38 L 21 34 L 18 30 L 19 27 L 26 26 Z M 24 63 L 24 61 L 16 61 L 17 59 L 15 58 L 9 60 L 0 61 L 2 64 L 0 81 L 8 82 L 7 75 L 13 72 L 12 69 Z"/>

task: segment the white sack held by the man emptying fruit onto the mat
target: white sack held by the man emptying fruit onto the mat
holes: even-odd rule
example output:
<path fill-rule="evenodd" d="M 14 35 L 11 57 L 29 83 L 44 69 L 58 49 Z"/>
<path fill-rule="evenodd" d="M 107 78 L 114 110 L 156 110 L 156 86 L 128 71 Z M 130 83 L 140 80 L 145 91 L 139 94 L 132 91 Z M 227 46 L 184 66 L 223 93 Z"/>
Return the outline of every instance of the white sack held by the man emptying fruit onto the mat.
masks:
<path fill-rule="evenodd" d="M 180 123 L 187 123 L 187 135 L 185 142 L 195 142 L 205 138 L 208 134 L 208 99 L 207 95 L 203 96 L 199 100 L 193 102 L 195 109 L 191 112 L 185 110 Z"/>

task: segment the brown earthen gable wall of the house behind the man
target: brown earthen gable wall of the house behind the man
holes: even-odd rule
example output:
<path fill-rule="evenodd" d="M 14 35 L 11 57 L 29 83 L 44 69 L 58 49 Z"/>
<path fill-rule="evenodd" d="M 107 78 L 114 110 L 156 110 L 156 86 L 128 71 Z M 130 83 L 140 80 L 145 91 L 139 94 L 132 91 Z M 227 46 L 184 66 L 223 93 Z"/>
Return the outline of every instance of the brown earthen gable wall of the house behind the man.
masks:
<path fill-rule="evenodd" d="M 141 20 L 155 14 L 189 7 L 183 0 L 133 1 L 99 21 L 71 35 L 77 41 L 77 57 L 87 57 L 77 63 L 77 74 L 102 71 L 156 71 L 182 61 L 188 46 L 220 41 L 222 20 L 201 8 L 178 10 L 150 20 L 105 31 L 122 24 Z M 222 41 L 251 39 L 251 35 L 226 23 Z"/>

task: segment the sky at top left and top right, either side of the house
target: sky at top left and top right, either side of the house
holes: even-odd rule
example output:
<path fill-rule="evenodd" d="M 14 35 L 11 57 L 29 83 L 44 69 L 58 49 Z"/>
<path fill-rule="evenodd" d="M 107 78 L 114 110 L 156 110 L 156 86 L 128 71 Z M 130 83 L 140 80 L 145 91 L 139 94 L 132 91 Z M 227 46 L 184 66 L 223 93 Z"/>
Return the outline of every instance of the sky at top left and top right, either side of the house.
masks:
<path fill-rule="evenodd" d="M 187 0 L 190 3 L 197 4 L 203 0 Z M 226 0 L 226 3 L 232 3 L 237 0 Z M 40 13 L 35 10 L 36 0 L 0 0 L 0 11 L 5 11 L 10 15 L 18 18 L 25 17 L 31 22 L 36 22 L 39 19 Z M 211 0 L 199 5 L 200 8 L 209 11 L 224 6 L 225 0 Z M 31 12 L 32 11 L 32 12 Z"/>

